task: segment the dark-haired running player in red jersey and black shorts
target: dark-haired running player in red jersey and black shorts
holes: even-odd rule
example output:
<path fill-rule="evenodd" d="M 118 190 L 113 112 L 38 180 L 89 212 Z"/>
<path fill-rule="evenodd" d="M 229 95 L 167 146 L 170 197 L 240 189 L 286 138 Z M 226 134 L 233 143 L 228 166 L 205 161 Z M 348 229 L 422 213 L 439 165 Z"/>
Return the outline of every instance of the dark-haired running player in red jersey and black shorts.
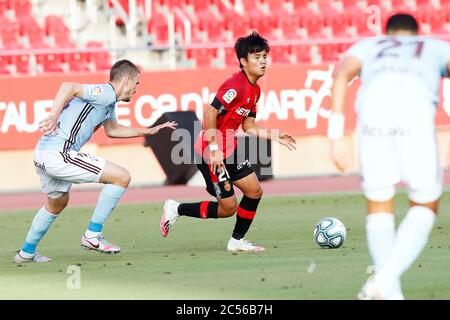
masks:
<path fill-rule="evenodd" d="M 194 147 L 196 156 L 201 157 L 197 167 L 206 181 L 206 190 L 217 201 L 178 203 L 166 200 L 160 227 L 163 237 L 167 237 L 169 228 L 179 216 L 216 219 L 231 217 L 237 212 L 227 250 L 257 252 L 264 248 L 253 245 L 244 236 L 255 217 L 263 191 L 249 160 L 236 150 L 236 132 L 242 125 L 246 133 L 276 140 L 289 150 L 295 149 L 295 140 L 287 133 L 264 129 L 255 122 L 256 103 L 261 95 L 257 81 L 266 72 L 270 50 L 267 40 L 253 32 L 239 38 L 234 48 L 241 70 L 220 86 L 204 112 L 203 130 Z M 233 186 L 244 194 L 239 204 Z"/>

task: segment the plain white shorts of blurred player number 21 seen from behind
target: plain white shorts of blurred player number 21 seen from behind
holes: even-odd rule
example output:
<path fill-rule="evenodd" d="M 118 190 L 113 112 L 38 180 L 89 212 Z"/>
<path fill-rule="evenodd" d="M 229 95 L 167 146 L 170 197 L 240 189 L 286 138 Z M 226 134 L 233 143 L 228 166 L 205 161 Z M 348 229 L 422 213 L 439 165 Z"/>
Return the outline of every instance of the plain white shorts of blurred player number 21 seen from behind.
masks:
<path fill-rule="evenodd" d="M 442 194 L 443 174 L 434 126 L 358 126 L 361 186 L 372 201 L 387 201 L 403 182 L 410 200 L 433 202 Z"/>

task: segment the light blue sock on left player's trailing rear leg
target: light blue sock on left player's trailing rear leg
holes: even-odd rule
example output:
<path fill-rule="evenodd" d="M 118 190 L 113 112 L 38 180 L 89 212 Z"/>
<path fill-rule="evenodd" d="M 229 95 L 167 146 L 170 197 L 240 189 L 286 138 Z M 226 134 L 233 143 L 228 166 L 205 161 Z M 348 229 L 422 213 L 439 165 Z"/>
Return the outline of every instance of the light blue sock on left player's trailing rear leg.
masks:
<path fill-rule="evenodd" d="M 31 224 L 31 228 L 28 231 L 27 238 L 23 244 L 23 252 L 30 255 L 33 255 L 36 252 L 36 246 L 47 233 L 47 230 L 57 216 L 58 215 L 56 214 L 48 212 L 45 209 L 45 206 L 38 211 L 34 216 L 33 223 Z"/>

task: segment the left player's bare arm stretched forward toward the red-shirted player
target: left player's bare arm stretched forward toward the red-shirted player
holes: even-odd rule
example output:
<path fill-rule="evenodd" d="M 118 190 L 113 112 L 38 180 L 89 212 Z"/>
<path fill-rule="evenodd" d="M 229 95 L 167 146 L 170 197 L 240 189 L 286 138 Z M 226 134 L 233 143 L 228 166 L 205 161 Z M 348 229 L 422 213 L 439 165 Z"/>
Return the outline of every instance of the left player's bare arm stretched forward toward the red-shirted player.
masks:
<path fill-rule="evenodd" d="M 110 138 L 134 138 L 142 137 L 146 135 L 157 134 L 161 129 L 170 128 L 175 129 L 178 123 L 175 121 L 167 121 L 152 128 L 132 128 L 119 124 L 117 120 L 106 120 L 103 123 L 105 133 Z"/>

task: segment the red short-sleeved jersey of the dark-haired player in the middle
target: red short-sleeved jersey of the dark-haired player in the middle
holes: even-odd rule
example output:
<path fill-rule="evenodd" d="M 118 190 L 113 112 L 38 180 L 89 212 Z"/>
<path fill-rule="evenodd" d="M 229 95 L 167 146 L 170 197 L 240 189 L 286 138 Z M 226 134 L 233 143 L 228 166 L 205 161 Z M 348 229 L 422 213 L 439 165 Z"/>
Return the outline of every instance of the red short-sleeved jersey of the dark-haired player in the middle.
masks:
<path fill-rule="evenodd" d="M 237 147 L 236 132 L 246 117 L 256 117 L 256 103 L 261 95 L 257 83 L 254 85 L 248 80 L 244 71 L 235 72 L 217 90 L 211 106 L 217 109 L 217 130 L 219 149 L 225 158 L 233 154 Z M 205 124 L 197 137 L 194 150 L 199 155 L 209 157 L 208 141 L 204 135 Z M 221 138 L 221 139 L 220 139 Z"/>

